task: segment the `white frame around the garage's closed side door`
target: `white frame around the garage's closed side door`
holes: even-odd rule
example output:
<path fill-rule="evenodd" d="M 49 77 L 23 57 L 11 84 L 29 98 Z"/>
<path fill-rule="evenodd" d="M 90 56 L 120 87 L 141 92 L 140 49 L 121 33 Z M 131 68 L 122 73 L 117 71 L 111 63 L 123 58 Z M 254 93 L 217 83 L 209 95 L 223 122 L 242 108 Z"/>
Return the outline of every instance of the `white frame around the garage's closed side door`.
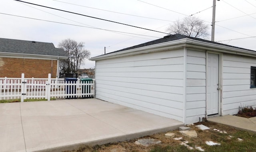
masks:
<path fill-rule="evenodd" d="M 219 67 L 219 71 L 218 71 L 218 81 L 219 81 L 219 90 L 218 90 L 218 116 L 222 115 L 222 60 L 223 60 L 223 53 L 219 53 L 219 52 L 214 52 L 214 51 L 206 51 L 206 100 L 205 100 L 205 115 L 206 118 L 208 117 L 207 114 L 207 73 L 208 73 L 208 53 L 211 54 L 218 54 L 219 56 L 219 62 L 218 62 L 218 67 Z"/>

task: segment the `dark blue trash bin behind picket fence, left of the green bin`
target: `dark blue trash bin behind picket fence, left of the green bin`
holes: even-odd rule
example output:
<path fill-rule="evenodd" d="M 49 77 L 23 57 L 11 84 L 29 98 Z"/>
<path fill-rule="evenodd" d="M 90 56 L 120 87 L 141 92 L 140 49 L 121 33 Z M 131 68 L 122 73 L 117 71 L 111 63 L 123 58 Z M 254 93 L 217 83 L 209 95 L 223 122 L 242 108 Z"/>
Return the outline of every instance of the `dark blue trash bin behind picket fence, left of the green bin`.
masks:
<path fill-rule="evenodd" d="M 66 93 L 67 94 L 76 94 L 76 78 L 69 78 L 66 77 L 65 78 L 66 81 Z M 76 95 L 70 95 L 70 96 L 66 96 L 66 99 L 76 99 L 77 96 Z"/>

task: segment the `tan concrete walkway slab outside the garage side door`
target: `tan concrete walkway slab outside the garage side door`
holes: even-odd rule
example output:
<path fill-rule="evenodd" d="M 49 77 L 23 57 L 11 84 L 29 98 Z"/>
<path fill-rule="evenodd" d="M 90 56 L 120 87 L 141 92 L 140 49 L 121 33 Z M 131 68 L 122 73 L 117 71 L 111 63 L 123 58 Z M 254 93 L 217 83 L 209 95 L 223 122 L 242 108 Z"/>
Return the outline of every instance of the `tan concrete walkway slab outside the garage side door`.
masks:
<path fill-rule="evenodd" d="M 207 120 L 210 122 L 226 124 L 238 130 L 246 130 L 246 131 L 251 131 L 256 133 L 256 124 L 253 123 L 255 119 L 248 119 L 240 116 L 226 115 L 226 116 L 216 116 L 212 118 L 207 118 Z"/>

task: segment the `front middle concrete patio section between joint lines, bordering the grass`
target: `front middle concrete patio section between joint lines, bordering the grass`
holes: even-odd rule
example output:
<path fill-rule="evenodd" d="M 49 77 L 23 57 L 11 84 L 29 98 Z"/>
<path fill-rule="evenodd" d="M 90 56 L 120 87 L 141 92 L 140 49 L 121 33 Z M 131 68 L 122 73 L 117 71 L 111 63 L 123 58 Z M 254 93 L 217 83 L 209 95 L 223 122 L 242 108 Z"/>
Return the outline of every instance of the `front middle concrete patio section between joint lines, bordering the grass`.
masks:
<path fill-rule="evenodd" d="M 23 128 L 27 151 L 89 144 L 116 136 L 126 138 L 123 132 L 92 116 L 24 123 Z"/>

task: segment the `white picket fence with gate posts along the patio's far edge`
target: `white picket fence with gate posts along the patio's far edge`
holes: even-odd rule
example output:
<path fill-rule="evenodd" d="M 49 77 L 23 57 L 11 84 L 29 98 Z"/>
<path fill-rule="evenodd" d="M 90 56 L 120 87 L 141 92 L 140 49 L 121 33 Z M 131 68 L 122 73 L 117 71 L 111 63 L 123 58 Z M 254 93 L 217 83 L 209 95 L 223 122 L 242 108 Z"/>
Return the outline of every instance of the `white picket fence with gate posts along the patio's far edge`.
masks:
<path fill-rule="evenodd" d="M 94 79 L 74 78 L 0 78 L 0 100 L 2 99 L 48 99 L 50 98 L 94 98 Z"/>

